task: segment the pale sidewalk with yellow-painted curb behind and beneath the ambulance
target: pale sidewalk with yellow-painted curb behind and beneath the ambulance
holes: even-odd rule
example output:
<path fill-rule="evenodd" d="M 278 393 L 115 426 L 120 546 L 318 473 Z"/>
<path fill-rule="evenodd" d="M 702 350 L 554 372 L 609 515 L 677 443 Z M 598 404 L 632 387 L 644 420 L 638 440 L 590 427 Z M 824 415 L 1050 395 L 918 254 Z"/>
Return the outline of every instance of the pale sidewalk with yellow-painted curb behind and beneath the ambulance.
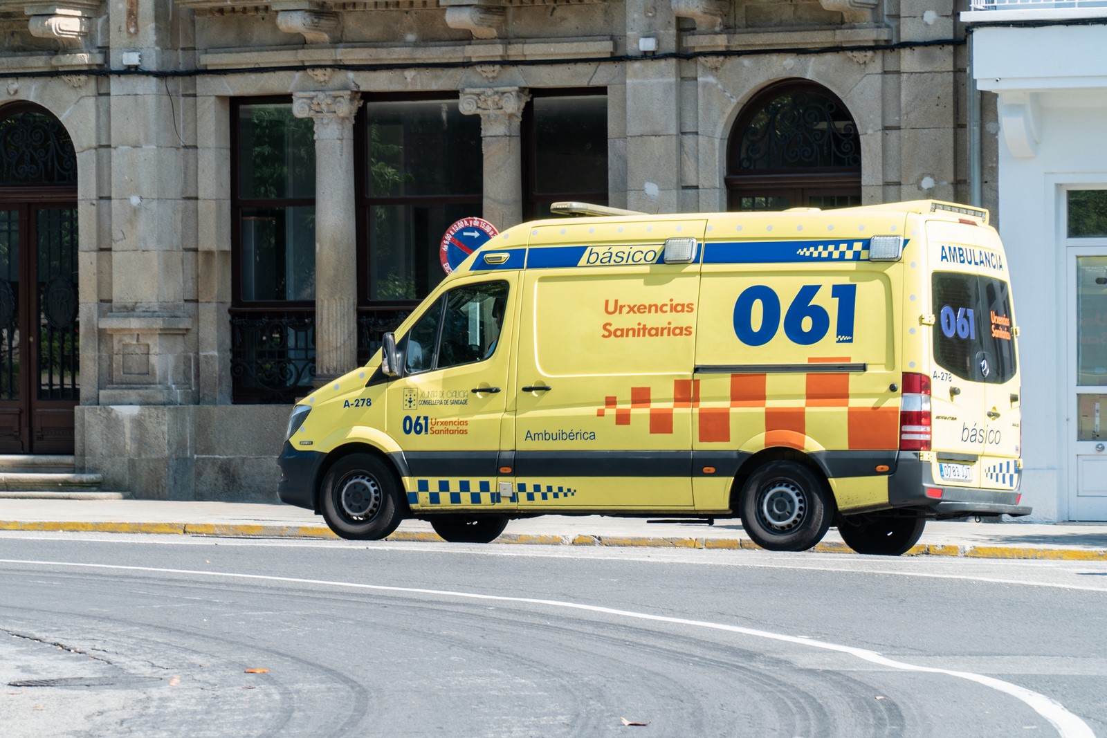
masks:
<path fill-rule="evenodd" d="M 334 538 L 322 517 L 288 505 L 155 500 L 0 499 L 0 530 Z M 406 520 L 389 540 L 441 539 Z M 497 543 L 755 549 L 737 519 L 545 516 L 513 520 Z M 851 553 L 835 529 L 814 551 Z M 928 522 L 909 555 L 1107 561 L 1107 523 Z"/>

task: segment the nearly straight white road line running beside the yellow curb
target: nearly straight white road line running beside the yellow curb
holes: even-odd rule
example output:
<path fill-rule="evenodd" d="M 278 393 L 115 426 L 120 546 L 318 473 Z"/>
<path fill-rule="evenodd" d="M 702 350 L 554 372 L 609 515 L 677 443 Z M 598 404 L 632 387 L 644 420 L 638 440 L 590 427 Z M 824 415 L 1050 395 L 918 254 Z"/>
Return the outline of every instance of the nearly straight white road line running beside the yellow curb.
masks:
<path fill-rule="evenodd" d="M 7 536 L 3 533 L 13 533 Z M 428 542 L 390 542 L 390 543 L 350 543 L 346 541 L 313 541 L 313 540 L 281 540 L 281 539 L 250 539 L 250 538 L 216 538 L 204 536 L 182 536 L 167 537 L 149 533 L 100 533 L 100 537 L 87 534 L 74 534 L 59 532 L 52 536 L 27 534 L 18 531 L 0 531 L 0 539 L 12 538 L 19 540 L 35 541 L 81 541 L 89 543 L 148 543 L 158 545 L 227 545 L 227 547 L 273 547 L 273 548 L 328 548 L 346 549 L 353 551 L 401 551 L 418 553 L 448 553 L 451 555 L 472 557 L 520 557 L 534 559 L 588 559 L 588 560 L 612 560 L 635 561 L 648 563 L 696 563 L 708 567 L 735 567 L 745 569 L 786 569 L 789 571 L 816 571 L 834 572 L 847 574 L 886 574 L 889 576 L 915 576 L 921 579 L 949 579 L 964 582 L 984 582 L 986 584 L 1014 584 L 1020 586 L 1044 586 L 1057 590 L 1074 590 L 1078 592 L 1107 593 L 1107 576 L 1099 586 L 1088 584 L 1066 584 L 1063 582 L 1035 582 L 1025 579 L 1004 579 L 1000 576 L 984 576 L 980 574 L 952 574 L 944 572 L 920 572 L 899 571 L 894 569 L 877 569 L 873 564 L 880 563 L 878 558 L 861 557 L 849 553 L 804 553 L 805 559 L 818 557 L 820 563 L 794 563 L 785 561 L 785 558 L 794 560 L 797 554 L 787 553 L 783 557 L 767 551 L 724 551 L 703 549 L 650 549 L 650 553 L 643 553 L 638 549 L 623 549 L 619 547 L 582 547 L 582 545 L 552 545 L 531 547 L 518 544 L 472 544 L 462 543 L 428 543 Z M 547 550 L 539 550 L 547 549 Z M 710 558 L 708 558 L 710 557 Z M 726 557 L 727 560 L 720 560 Z M 737 560 L 732 557 L 742 557 Z M 770 560 L 764 560 L 772 557 Z M 850 557 L 849 560 L 844 560 Z M 757 561 L 755 559 L 763 559 Z M 961 565 L 972 562 L 977 565 L 989 565 L 1004 569 L 1101 569 L 1101 573 L 1107 574 L 1107 567 L 1101 561 L 1056 561 L 1056 560 L 1034 560 L 1034 559 L 968 559 L 968 558 L 901 558 L 896 559 L 903 565 Z M 1096 572 L 1100 573 L 1100 572 Z"/>

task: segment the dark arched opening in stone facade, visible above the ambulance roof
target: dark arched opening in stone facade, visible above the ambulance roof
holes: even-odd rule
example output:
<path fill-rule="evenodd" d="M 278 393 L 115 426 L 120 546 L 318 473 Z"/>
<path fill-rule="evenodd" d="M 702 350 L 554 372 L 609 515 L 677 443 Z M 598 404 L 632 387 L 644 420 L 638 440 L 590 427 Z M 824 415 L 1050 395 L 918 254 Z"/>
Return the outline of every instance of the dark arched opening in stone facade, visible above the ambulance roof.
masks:
<path fill-rule="evenodd" d="M 807 80 L 768 85 L 731 129 L 731 210 L 841 208 L 861 204 L 861 141 L 838 97 Z"/>

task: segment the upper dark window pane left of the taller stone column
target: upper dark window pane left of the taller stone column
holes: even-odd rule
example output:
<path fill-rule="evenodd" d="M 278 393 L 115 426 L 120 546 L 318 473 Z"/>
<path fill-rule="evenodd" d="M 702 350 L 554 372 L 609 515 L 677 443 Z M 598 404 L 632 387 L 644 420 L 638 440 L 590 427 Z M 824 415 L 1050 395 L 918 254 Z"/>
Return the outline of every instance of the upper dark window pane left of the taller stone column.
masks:
<path fill-rule="evenodd" d="M 238 181 L 242 199 L 313 198 L 315 142 L 311 118 L 292 105 L 238 108 Z"/>

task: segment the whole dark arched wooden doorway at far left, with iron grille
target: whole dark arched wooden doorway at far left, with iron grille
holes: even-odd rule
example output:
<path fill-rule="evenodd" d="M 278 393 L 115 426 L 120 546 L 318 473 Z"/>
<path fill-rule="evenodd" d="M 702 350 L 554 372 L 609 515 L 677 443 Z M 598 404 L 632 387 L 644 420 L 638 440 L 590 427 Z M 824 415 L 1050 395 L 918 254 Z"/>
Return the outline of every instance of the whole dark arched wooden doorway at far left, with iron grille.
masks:
<path fill-rule="evenodd" d="M 0 454 L 72 454 L 80 399 L 76 154 L 53 115 L 0 107 Z"/>

